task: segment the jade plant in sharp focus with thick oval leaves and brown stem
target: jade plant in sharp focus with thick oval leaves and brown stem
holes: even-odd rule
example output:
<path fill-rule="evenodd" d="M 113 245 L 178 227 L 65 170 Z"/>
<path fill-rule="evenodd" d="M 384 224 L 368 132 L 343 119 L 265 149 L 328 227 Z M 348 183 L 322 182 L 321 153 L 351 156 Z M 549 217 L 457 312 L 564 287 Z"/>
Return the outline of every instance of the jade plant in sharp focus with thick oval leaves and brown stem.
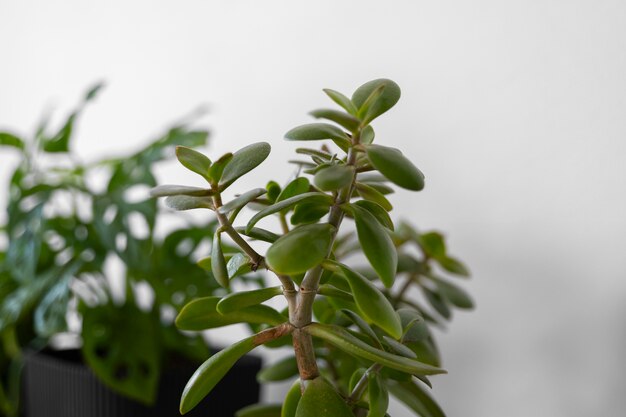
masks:
<path fill-rule="evenodd" d="M 177 326 L 199 331 L 248 323 L 255 329 L 198 368 L 182 393 L 183 414 L 239 358 L 265 345 L 292 346 L 292 353 L 258 379 L 295 382 L 282 404 L 247 407 L 240 417 L 383 417 L 390 394 L 417 415 L 444 415 L 425 389 L 431 375 L 446 373 L 431 329 L 443 326 L 453 307 L 473 307 L 466 292 L 444 277 L 467 277 L 468 270 L 448 254 L 441 233 L 419 232 L 389 215 L 393 186 L 424 188 L 424 175 L 402 152 L 374 143 L 371 123 L 399 100 L 398 85 L 377 79 L 351 98 L 324 92 L 340 109 L 315 110 L 315 118 L 331 123 L 285 134 L 289 141 L 325 142 L 296 150 L 304 159 L 292 161 L 298 174 L 284 187 L 271 181 L 233 192 L 235 181 L 269 155 L 270 145 L 261 142 L 215 161 L 177 147 L 181 164 L 207 186 L 161 185 L 152 191 L 166 197 L 170 208 L 208 209 L 219 222 L 210 257 L 200 265 L 224 295 L 191 301 Z M 228 192 L 235 197 L 226 201 Z M 255 211 L 247 222 L 240 220 L 246 208 Z M 225 255 L 226 241 L 238 251 Z M 240 277 L 261 270 L 278 285 L 242 290 Z M 274 297 L 283 301 L 272 300 L 272 307 L 266 302 Z M 283 309 L 275 308 L 281 303 Z"/>

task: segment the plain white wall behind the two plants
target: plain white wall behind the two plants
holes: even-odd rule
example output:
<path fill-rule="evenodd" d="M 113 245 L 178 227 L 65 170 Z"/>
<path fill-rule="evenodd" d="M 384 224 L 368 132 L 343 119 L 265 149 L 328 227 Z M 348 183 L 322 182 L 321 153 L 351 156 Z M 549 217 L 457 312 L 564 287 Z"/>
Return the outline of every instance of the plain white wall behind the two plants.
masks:
<path fill-rule="evenodd" d="M 263 186 L 292 171 L 282 135 L 329 104 L 322 88 L 378 77 L 403 90 L 378 140 L 427 177 L 395 216 L 445 231 L 473 272 L 477 310 L 440 337 L 448 414 L 624 415 L 623 0 L 0 0 L 0 128 L 30 134 L 106 80 L 80 121 L 86 159 L 208 104 L 212 155 L 273 145 L 240 181 Z"/>

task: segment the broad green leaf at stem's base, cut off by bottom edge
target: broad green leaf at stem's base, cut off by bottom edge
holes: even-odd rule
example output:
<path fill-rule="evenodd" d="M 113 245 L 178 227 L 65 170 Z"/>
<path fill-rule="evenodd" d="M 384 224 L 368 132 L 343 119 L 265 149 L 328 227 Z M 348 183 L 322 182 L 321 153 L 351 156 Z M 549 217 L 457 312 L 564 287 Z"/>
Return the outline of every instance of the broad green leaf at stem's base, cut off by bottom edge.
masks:
<path fill-rule="evenodd" d="M 308 382 L 295 417 L 320 416 L 354 417 L 350 407 L 323 377 Z"/>

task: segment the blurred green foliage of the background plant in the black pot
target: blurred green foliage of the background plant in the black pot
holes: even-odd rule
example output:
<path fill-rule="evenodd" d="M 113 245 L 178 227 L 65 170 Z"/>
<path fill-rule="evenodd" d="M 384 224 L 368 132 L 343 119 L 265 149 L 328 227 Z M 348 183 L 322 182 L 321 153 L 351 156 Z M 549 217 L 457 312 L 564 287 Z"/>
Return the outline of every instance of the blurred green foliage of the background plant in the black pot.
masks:
<path fill-rule="evenodd" d="M 90 89 L 58 129 L 44 120 L 28 140 L 0 132 L 2 152 L 19 157 L 0 230 L 6 242 L 0 250 L 0 414 L 17 415 L 19 372 L 12 370 L 19 369 L 23 349 L 67 332 L 74 305 L 82 318 L 83 357 L 100 379 L 134 399 L 154 400 L 168 355 L 198 360 L 209 353 L 200 337 L 184 335 L 162 317 L 218 287 L 194 258 L 215 223 L 158 237 L 160 214 L 147 192 L 157 183 L 154 168 L 173 156 L 175 145 L 205 145 L 208 133 L 178 125 L 133 154 L 82 163 L 72 152 L 73 132 L 100 87 Z M 105 186 L 94 185 L 94 177 L 104 177 Z M 109 287 L 113 259 L 124 265 L 123 301 Z M 138 284 L 154 293 L 147 311 L 134 299 Z"/>

